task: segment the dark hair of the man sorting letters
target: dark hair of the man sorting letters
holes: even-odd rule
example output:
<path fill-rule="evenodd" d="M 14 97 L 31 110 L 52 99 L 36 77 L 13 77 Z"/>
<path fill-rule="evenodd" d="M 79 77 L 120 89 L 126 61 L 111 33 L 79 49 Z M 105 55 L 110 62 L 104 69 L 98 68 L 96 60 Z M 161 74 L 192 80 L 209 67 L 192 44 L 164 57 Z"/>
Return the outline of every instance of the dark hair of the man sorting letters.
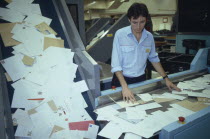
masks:
<path fill-rule="evenodd" d="M 137 19 L 139 16 L 148 17 L 148 9 L 147 6 L 143 3 L 133 3 L 127 12 L 128 19 L 131 19 L 133 17 L 134 19 Z"/>

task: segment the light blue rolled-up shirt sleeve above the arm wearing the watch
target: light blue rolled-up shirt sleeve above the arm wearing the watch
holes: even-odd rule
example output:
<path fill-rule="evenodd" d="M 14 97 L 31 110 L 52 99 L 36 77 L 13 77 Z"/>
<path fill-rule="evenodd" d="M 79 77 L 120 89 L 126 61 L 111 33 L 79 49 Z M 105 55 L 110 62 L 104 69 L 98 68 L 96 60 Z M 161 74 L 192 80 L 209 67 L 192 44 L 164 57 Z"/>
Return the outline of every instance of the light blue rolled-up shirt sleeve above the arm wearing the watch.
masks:
<path fill-rule="evenodd" d="M 160 59 L 158 57 L 158 53 L 155 50 L 155 41 L 154 41 L 153 37 L 152 37 L 152 48 L 151 48 L 151 51 L 150 51 L 148 59 L 152 63 L 160 62 Z"/>

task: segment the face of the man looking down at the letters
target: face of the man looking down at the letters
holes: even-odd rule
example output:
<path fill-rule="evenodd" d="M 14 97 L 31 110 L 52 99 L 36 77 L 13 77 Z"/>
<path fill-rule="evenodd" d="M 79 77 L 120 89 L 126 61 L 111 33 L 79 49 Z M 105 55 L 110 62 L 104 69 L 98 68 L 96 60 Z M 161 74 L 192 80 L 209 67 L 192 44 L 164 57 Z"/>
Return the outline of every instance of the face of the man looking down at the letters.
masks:
<path fill-rule="evenodd" d="M 133 33 L 141 33 L 146 24 L 146 17 L 139 16 L 136 19 L 131 17 L 129 21 L 131 23 L 131 28 L 132 28 Z"/>

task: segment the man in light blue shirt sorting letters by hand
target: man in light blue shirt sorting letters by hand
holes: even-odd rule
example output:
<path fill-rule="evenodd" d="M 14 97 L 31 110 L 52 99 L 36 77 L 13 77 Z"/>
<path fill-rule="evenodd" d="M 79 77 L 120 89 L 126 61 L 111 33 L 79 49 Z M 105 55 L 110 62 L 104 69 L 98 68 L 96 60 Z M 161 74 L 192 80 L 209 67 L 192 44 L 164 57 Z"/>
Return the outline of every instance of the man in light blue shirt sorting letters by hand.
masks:
<path fill-rule="evenodd" d="M 157 72 L 165 79 L 166 86 L 172 90 L 181 91 L 168 78 L 163 70 L 158 54 L 155 51 L 154 38 L 145 29 L 148 17 L 145 4 L 134 3 L 128 9 L 127 16 L 130 26 L 119 29 L 115 33 L 112 49 L 112 70 L 114 73 L 112 86 L 122 86 L 123 99 L 135 101 L 128 84 L 144 81 L 147 59 Z"/>

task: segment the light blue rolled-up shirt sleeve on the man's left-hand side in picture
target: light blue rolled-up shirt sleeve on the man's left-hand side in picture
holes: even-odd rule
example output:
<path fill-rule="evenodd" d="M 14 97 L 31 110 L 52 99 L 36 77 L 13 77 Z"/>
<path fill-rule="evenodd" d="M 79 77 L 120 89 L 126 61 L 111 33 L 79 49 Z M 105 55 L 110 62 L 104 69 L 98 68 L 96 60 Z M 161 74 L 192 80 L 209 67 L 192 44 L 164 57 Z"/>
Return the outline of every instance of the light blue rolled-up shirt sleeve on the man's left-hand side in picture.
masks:
<path fill-rule="evenodd" d="M 115 33 L 113 48 L 112 48 L 112 62 L 111 62 L 111 72 L 122 71 L 122 53 L 119 45 L 118 32 Z"/>

